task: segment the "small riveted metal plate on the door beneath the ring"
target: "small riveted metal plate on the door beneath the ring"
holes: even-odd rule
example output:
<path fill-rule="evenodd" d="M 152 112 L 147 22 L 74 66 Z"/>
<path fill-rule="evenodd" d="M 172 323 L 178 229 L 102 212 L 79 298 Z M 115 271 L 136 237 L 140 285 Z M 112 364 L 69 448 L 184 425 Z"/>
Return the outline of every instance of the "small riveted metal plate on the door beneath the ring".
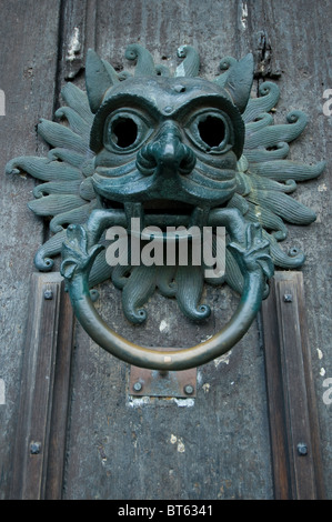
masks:
<path fill-rule="evenodd" d="M 197 395 L 197 368 L 178 372 L 163 372 L 131 365 L 129 394 L 138 396 L 194 398 Z"/>

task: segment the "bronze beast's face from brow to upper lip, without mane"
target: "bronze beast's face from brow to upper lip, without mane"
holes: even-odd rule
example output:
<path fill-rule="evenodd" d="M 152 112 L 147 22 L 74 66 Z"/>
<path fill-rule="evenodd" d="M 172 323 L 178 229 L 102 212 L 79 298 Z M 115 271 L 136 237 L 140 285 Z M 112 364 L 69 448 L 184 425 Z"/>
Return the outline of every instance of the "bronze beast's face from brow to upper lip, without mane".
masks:
<path fill-rule="evenodd" d="M 129 79 L 110 90 L 95 116 L 92 183 L 109 201 L 208 210 L 234 194 L 243 141 L 240 113 L 217 86 Z"/>

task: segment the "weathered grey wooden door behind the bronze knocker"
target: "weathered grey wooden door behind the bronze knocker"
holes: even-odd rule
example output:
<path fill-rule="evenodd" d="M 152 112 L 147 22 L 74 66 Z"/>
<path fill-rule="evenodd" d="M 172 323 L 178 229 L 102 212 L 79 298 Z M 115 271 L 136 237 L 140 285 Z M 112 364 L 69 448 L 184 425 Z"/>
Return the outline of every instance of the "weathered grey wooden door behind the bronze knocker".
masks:
<path fill-rule="evenodd" d="M 278 122 L 291 109 L 309 114 L 292 159 L 329 161 L 332 119 L 323 113 L 323 93 L 332 88 L 328 0 L 4 3 L 2 172 L 13 157 L 46 155 L 34 126 L 53 118 L 67 82 L 84 88 L 88 48 L 121 70 L 125 47 L 133 42 L 173 66 L 178 47 L 193 44 L 208 78 L 222 57 L 239 59 L 252 51 L 253 96 L 271 79 L 281 89 Z M 32 277 L 34 252 L 48 234 L 27 209 L 33 187 L 24 174 L 1 177 L 1 498 L 320 498 L 324 489 L 331 496 L 331 410 L 322 399 L 332 377 L 329 167 L 296 193 L 318 213 L 316 222 L 290 227 L 285 241 L 286 249 L 308 253 L 304 291 L 301 277 L 278 275 L 258 321 L 229 354 L 198 369 L 197 395 L 188 399 L 132 396 L 129 365 L 72 325 L 59 264 L 53 279 Z M 296 295 L 292 313 L 283 311 L 280 290 L 290 280 Z M 40 293 L 44 285 L 57 295 L 52 305 Z M 110 325 L 148 345 L 203 341 L 220 330 L 238 299 L 231 290 L 207 288 L 214 312 L 198 327 L 155 294 L 147 325 L 133 327 L 122 315 L 119 291 L 105 283 L 99 290 L 98 307 Z M 44 331 L 36 324 L 49 327 Z M 294 324 L 300 330 L 293 337 Z M 300 440 L 302 433 L 310 440 Z M 309 453 L 301 454 L 301 443 L 309 444 Z"/>

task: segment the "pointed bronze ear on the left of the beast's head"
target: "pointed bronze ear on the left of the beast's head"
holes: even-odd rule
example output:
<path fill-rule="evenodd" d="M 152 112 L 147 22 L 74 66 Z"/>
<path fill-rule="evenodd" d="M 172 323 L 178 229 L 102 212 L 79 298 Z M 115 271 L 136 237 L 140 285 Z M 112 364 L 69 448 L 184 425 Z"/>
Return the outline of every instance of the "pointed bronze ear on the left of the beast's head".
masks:
<path fill-rule="evenodd" d="M 117 81 L 117 72 L 110 63 L 104 62 L 92 50 L 88 50 L 85 63 L 85 87 L 90 109 L 95 113 L 102 102 L 105 91 Z"/>

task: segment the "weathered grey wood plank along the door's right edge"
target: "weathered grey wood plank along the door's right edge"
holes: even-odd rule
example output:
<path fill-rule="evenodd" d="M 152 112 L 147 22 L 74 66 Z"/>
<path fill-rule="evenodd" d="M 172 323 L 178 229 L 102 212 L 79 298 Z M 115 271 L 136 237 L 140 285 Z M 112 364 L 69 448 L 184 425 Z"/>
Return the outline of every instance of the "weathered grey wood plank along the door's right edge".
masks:
<path fill-rule="evenodd" d="M 323 93 L 332 84 L 332 33 L 328 29 L 332 16 L 329 0 L 255 0 L 247 2 L 253 34 L 263 30 L 270 39 L 269 59 L 281 70 L 278 80 L 281 97 L 275 121 L 285 121 L 286 113 L 299 109 L 308 114 L 309 123 L 301 137 L 291 143 L 292 159 L 304 163 L 326 160 L 324 173 L 309 183 L 299 183 L 294 198 L 314 210 L 316 221 L 310 227 L 290 225 L 285 251 L 295 247 L 306 260 L 301 269 L 305 283 L 305 328 L 310 340 L 316 411 L 320 419 L 321 452 L 324 464 L 326 496 L 332 496 L 331 406 L 322 400 L 323 383 L 332 375 L 331 318 L 332 264 L 331 251 L 331 116 L 323 113 Z M 256 8 L 261 6 L 262 18 Z M 265 53 L 266 57 L 266 53 Z M 266 78 L 268 79 L 268 78 Z M 263 79 L 261 80 L 263 81 Z M 324 377 L 325 375 L 325 377 Z"/>

